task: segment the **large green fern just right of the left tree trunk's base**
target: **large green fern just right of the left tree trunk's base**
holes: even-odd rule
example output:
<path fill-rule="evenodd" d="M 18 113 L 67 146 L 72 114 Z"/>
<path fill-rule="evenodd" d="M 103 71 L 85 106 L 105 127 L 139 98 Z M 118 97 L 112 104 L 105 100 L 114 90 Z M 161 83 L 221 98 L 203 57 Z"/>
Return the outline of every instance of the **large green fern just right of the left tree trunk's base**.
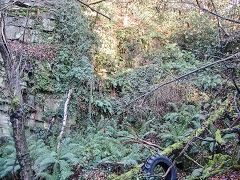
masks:
<path fill-rule="evenodd" d="M 64 180 L 73 174 L 72 167 L 79 160 L 76 158 L 76 144 L 71 143 L 70 139 L 65 139 L 57 152 L 47 147 L 42 140 L 30 142 L 37 177 Z"/>

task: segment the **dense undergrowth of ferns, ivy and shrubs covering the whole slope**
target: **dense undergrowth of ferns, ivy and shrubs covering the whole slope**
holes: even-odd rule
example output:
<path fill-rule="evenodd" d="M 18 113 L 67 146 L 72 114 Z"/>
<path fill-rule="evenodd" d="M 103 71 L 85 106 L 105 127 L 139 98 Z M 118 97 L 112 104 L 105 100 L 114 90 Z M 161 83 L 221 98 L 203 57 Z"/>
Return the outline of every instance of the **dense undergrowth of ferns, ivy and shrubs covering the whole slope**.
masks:
<path fill-rule="evenodd" d="M 136 2 L 136 9 L 130 9 L 129 16 L 136 17 L 143 12 L 144 3 L 147 2 Z M 164 7 L 156 7 L 161 8 Z M 107 51 L 112 46 L 106 44 L 112 42 L 104 42 L 97 30 L 92 31 L 94 26 L 102 26 L 97 24 L 102 19 L 97 17 L 91 21 L 91 16 L 84 15 L 85 11 L 74 2 L 59 5 L 56 32 L 51 42 L 57 47 L 57 57 L 41 62 L 35 59 L 35 63 L 41 65 L 34 67 L 30 92 L 37 96 L 42 107 L 47 96 L 62 99 L 55 112 L 45 111 L 46 122 L 56 118 L 50 134 L 45 129 L 41 134 L 32 130 L 28 133 L 37 179 L 112 179 L 113 174 L 120 176 L 142 164 L 148 156 L 163 152 L 120 135 L 145 139 L 165 149 L 178 143 L 186 144 L 199 130 L 200 137 L 215 140 L 218 131 L 227 129 L 237 118 L 233 101 L 235 88 L 229 79 L 231 71 L 223 65 L 207 68 L 164 86 L 144 101 L 125 106 L 157 84 L 238 51 L 228 52 L 231 43 L 232 47 L 236 46 L 235 42 L 221 39 L 219 43 L 217 23 L 209 20 L 210 15 L 180 9 L 178 15 L 184 15 L 176 21 L 176 12 L 171 8 L 165 10 L 164 16 L 148 9 L 156 15 L 145 19 L 132 17 L 137 25 L 106 29 L 109 36 L 114 34 L 116 38 L 112 57 Z M 109 26 L 112 23 L 102 22 Z M 237 30 L 233 28 L 229 32 Z M 236 76 L 239 77 L 239 69 Z M 74 93 L 68 114 L 74 123 L 66 130 L 60 149 L 56 150 L 65 93 L 70 88 Z M 222 107 L 226 101 L 229 103 Z M 218 116 L 214 113 L 219 108 L 222 108 L 221 116 L 211 121 L 211 117 Z M 207 121 L 210 123 L 206 125 Z M 217 143 L 194 142 L 185 156 L 178 159 L 177 164 L 184 164 L 178 172 L 185 173 L 185 179 L 201 179 L 220 173 L 226 167 L 239 167 L 238 135 L 220 135 L 220 139 Z M 216 155 L 211 159 L 213 152 Z M 174 148 L 167 153 L 170 158 L 177 154 Z M 0 164 L 1 178 L 19 177 L 20 166 L 11 139 L 0 148 Z M 138 173 L 133 179 L 144 176 Z"/>

